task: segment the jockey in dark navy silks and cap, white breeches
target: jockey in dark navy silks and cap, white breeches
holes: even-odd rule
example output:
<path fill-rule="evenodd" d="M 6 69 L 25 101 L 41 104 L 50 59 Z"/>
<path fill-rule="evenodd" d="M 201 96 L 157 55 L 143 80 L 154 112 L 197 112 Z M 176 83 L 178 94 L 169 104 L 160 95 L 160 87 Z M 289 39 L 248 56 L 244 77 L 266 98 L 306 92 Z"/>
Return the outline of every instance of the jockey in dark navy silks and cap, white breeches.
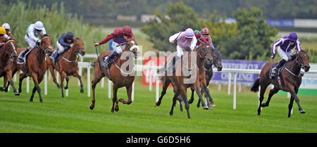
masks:
<path fill-rule="evenodd" d="M 73 46 L 74 43 L 74 34 L 73 32 L 67 32 L 67 34 L 62 34 L 61 37 L 59 37 L 58 41 L 56 42 L 56 45 L 58 47 L 58 51 L 56 55 L 53 57 L 53 62 L 56 64 L 56 61 L 59 56 L 66 50 L 70 49 Z"/>

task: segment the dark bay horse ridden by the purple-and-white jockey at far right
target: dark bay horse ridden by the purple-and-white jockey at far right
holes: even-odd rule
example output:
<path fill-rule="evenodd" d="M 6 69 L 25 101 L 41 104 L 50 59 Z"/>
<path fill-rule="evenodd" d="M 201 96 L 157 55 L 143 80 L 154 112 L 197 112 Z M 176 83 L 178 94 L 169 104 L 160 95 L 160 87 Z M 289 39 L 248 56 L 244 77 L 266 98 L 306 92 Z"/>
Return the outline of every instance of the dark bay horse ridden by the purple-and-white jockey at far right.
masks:
<path fill-rule="evenodd" d="M 291 98 L 290 103 L 288 105 L 288 117 L 291 115 L 291 110 L 293 107 L 294 100 L 299 107 L 300 113 L 306 113 L 305 110 L 299 104 L 299 98 L 297 96 L 297 92 L 299 86 L 302 84 L 302 74 L 301 68 L 304 69 L 305 72 L 309 71 L 309 55 L 305 51 L 299 51 L 296 53 L 296 58 L 292 61 L 287 61 L 285 63 L 285 68 L 279 74 L 279 77 L 271 79 L 271 68 L 272 65 L 277 62 L 268 62 L 263 66 L 259 79 L 256 79 L 253 86 L 251 87 L 251 91 L 259 91 L 259 86 L 261 86 L 260 97 L 259 97 L 259 108 L 258 115 L 261 114 L 261 107 L 267 107 L 271 101 L 271 98 L 274 94 L 278 93 L 278 91 L 287 91 L 290 92 Z M 280 81 L 278 79 L 280 78 Z M 280 83 L 279 83 L 280 82 Z M 268 101 L 266 103 L 262 103 L 264 98 L 264 93 L 269 84 L 273 84 L 274 88 L 270 90 L 268 94 Z"/>

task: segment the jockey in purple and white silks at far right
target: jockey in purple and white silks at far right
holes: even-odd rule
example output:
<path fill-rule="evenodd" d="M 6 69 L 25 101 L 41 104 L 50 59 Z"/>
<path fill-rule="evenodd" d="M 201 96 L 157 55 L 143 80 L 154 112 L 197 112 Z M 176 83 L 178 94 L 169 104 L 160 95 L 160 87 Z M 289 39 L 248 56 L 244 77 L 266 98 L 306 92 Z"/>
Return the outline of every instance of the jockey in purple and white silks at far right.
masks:
<path fill-rule="evenodd" d="M 299 42 L 299 39 L 297 39 L 297 34 L 294 32 L 290 33 L 290 35 L 288 36 L 278 39 L 272 44 L 272 59 L 275 57 L 276 46 L 278 46 L 278 55 L 280 56 L 280 58 L 282 58 L 282 60 L 280 60 L 280 63 L 278 63 L 278 65 L 272 71 L 272 78 L 276 77 L 278 73 L 278 68 L 284 65 L 284 63 L 289 60 L 294 60 L 295 56 L 293 55 L 292 49 L 294 49 L 295 46 L 297 48 L 297 51 L 302 50 L 301 43 Z"/>

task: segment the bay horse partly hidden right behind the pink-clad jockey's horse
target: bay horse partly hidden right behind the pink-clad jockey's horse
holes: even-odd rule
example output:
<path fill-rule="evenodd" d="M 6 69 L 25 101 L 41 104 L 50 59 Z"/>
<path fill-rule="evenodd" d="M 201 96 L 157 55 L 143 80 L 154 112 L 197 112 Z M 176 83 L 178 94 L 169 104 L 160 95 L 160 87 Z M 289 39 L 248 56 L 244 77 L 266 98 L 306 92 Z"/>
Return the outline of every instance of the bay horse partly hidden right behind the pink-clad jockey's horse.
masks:
<path fill-rule="evenodd" d="M 211 46 L 209 44 L 201 44 L 198 46 L 197 48 L 197 66 L 199 67 L 199 82 L 200 82 L 200 87 L 202 89 L 202 91 L 207 91 L 209 92 L 209 90 L 206 87 L 206 78 L 205 78 L 205 68 L 204 68 L 204 64 L 208 63 L 208 64 L 212 64 L 213 63 L 213 53 L 211 50 Z M 160 106 L 161 101 L 163 96 L 166 94 L 166 89 L 168 88 L 168 85 L 171 83 L 171 81 L 168 79 L 168 77 L 162 77 L 162 82 L 163 82 L 163 89 L 161 91 L 161 96 L 159 98 L 159 101 L 156 102 L 156 106 Z M 194 89 L 194 87 L 191 87 L 191 89 Z M 194 90 L 192 90 L 192 92 L 194 92 Z M 208 93 L 209 94 L 209 93 Z M 205 97 L 209 98 L 209 101 L 212 102 L 212 99 L 210 94 L 208 95 L 206 93 Z M 193 95 L 193 93 L 192 93 Z M 181 99 L 178 99 L 179 101 L 182 101 Z M 193 101 L 193 100 L 192 100 Z M 209 108 L 211 109 L 211 106 L 209 106 Z M 182 111 L 182 103 L 180 103 L 180 110 Z"/>

